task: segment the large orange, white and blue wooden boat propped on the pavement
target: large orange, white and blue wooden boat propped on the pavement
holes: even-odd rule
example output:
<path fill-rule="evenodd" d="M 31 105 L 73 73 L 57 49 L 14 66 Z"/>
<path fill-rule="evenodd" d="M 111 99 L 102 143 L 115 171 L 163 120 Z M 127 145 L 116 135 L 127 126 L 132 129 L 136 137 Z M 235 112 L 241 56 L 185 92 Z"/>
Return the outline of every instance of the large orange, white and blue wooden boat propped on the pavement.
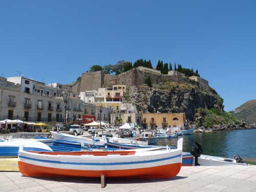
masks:
<path fill-rule="evenodd" d="M 20 148 L 20 173 L 30 177 L 134 177 L 168 179 L 182 164 L 182 138 L 178 148 L 166 151 L 26 152 Z"/>

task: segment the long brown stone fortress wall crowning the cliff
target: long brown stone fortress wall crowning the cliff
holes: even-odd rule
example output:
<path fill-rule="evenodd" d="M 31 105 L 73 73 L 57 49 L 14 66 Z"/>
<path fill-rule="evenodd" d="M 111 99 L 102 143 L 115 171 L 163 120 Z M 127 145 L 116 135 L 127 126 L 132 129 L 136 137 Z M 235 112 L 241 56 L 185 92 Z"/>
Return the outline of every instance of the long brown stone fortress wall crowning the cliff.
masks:
<path fill-rule="evenodd" d="M 80 80 L 73 83 L 73 92 L 98 90 L 98 88 L 112 88 L 115 84 L 125 84 L 127 87 L 137 87 L 145 84 L 145 78 L 151 77 L 152 83 L 170 81 L 177 83 L 197 83 L 201 89 L 210 90 L 208 81 L 200 77 L 187 79 L 182 73 L 170 72 L 161 75 L 158 70 L 138 67 L 119 75 L 104 74 L 101 71 L 82 73 Z"/>

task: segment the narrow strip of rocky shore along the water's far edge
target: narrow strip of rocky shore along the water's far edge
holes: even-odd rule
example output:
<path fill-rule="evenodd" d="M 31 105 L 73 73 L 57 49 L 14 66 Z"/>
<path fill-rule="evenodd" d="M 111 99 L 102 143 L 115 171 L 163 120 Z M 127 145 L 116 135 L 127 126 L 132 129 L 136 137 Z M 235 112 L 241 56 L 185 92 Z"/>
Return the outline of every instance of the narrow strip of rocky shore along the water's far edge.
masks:
<path fill-rule="evenodd" d="M 245 122 L 242 122 L 240 124 L 226 124 L 226 125 L 214 125 L 212 127 L 204 127 L 199 126 L 194 133 L 211 133 L 214 131 L 231 131 L 231 130 L 250 130 L 250 129 L 256 129 L 256 127 L 252 124 L 246 124 Z"/>

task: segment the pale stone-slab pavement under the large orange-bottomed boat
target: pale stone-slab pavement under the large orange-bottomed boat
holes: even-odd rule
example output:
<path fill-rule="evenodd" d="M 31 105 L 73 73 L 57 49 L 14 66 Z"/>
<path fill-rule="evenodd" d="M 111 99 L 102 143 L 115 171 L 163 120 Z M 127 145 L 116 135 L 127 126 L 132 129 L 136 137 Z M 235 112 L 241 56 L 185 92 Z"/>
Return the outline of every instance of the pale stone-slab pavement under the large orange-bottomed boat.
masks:
<path fill-rule="evenodd" d="M 256 166 L 182 167 L 169 180 L 108 179 L 101 189 L 100 178 L 29 178 L 19 172 L 0 172 L 0 191 L 255 191 Z"/>

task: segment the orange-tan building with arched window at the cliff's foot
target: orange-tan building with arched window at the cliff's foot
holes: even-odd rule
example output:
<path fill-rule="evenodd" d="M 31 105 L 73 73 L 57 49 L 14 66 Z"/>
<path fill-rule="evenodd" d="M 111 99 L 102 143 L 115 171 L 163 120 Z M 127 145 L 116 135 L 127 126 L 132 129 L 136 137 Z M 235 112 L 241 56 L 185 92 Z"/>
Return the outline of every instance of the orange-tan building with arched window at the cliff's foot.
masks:
<path fill-rule="evenodd" d="M 183 127 L 185 124 L 185 113 L 143 113 L 142 124 L 146 129 Z"/>

